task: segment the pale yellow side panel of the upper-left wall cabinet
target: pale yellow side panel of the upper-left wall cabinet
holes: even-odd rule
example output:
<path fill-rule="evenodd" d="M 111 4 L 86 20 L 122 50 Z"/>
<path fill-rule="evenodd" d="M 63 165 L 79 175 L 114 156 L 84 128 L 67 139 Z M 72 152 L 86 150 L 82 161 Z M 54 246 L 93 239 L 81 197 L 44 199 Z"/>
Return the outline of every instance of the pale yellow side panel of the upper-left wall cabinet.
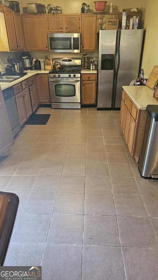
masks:
<path fill-rule="evenodd" d="M 9 52 L 4 13 L 0 11 L 0 52 Z"/>

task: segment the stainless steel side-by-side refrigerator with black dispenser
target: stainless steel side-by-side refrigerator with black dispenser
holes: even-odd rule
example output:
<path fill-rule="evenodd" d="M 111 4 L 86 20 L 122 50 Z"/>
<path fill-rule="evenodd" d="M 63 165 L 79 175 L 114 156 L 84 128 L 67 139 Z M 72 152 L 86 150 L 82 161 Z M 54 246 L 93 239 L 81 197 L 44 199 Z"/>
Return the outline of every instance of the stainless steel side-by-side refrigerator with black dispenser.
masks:
<path fill-rule="evenodd" d="M 100 30 L 97 109 L 120 108 L 122 86 L 138 78 L 143 29 Z"/>

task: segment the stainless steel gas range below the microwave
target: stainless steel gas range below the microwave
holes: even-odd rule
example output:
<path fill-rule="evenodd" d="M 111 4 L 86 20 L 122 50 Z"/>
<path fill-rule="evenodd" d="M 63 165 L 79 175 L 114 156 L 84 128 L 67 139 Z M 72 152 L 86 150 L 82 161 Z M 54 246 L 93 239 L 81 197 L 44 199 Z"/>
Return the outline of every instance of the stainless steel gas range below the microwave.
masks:
<path fill-rule="evenodd" d="M 54 63 L 61 67 L 49 71 L 52 108 L 81 109 L 81 58 L 54 58 Z"/>

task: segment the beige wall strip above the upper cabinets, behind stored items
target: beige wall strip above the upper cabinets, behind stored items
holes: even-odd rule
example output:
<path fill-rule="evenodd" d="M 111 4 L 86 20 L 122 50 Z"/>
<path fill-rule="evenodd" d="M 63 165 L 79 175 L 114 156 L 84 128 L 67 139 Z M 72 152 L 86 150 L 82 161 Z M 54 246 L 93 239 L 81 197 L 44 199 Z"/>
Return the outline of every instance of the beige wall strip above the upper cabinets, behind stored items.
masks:
<path fill-rule="evenodd" d="M 115 5 L 114 11 L 120 11 L 122 12 L 123 8 L 135 8 L 141 7 L 141 1 L 142 0 L 114 0 L 113 3 Z M 63 13 L 80 13 L 81 12 L 81 6 L 82 3 L 84 2 L 83 0 L 53 0 L 53 1 L 45 1 L 45 0 L 38 0 L 36 1 L 37 3 L 40 4 L 53 4 L 54 6 L 60 6 L 63 9 Z M 86 4 L 90 5 L 90 9 L 95 11 L 95 4 L 93 3 L 94 0 L 86 0 Z M 106 4 L 106 12 L 109 12 L 109 7 L 110 3 L 112 0 L 108 1 Z M 21 13 L 26 13 L 27 9 L 27 3 L 33 3 L 32 0 L 19 0 L 20 3 L 20 12 Z"/>

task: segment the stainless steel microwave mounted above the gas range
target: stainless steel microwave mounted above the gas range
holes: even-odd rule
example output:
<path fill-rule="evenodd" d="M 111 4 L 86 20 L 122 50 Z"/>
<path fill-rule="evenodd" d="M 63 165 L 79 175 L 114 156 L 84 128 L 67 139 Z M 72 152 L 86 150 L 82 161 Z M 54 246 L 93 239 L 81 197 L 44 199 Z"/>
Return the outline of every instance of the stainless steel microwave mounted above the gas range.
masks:
<path fill-rule="evenodd" d="M 48 33 L 48 41 L 50 52 L 80 52 L 80 33 Z"/>

